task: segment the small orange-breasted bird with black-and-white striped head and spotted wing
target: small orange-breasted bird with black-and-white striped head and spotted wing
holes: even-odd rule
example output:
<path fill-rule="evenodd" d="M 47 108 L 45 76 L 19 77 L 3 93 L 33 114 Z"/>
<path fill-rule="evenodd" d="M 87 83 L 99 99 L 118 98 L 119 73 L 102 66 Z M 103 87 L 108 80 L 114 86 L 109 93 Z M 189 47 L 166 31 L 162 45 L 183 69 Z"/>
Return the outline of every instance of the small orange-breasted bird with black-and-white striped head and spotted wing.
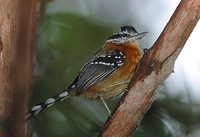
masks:
<path fill-rule="evenodd" d="M 146 34 L 138 33 L 133 26 L 121 27 L 119 32 L 107 38 L 66 90 L 33 106 L 25 119 L 70 96 L 101 99 L 110 114 L 104 99 L 126 90 L 142 57 L 139 40 Z"/>

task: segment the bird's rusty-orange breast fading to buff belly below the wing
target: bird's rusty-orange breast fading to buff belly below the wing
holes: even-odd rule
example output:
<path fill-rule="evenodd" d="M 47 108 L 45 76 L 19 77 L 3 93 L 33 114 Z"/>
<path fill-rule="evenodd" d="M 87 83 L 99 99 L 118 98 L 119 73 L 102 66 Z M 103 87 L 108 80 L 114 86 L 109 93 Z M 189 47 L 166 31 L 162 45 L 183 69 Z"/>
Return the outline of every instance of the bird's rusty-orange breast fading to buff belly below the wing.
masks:
<path fill-rule="evenodd" d="M 103 98 L 107 99 L 119 95 L 128 86 L 136 65 L 142 56 L 140 49 L 137 45 L 131 43 L 119 46 L 109 44 L 102 49 L 102 52 L 113 50 L 120 50 L 124 53 L 124 64 L 101 82 L 89 87 L 81 96 L 88 99 L 97 99 L 101 95 Z"/>

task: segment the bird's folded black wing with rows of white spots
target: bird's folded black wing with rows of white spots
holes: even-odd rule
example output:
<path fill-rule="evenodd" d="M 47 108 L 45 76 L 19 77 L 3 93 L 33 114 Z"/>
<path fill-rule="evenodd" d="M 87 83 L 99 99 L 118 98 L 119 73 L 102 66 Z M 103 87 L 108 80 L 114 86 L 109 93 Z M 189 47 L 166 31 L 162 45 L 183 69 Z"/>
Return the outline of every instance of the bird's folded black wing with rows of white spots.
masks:
<path fill-rule="evenodd" d="M 98 53 L 97 53 L 98 54 Z M 93 84 L 96 84 L 116 71 L 124 64 L 125 55 L 121 51 L 113 51 L 100 57 L 94 56 L 79 73 L 69 89 L 74 89 L 77 94 L 83 93 Z"/>

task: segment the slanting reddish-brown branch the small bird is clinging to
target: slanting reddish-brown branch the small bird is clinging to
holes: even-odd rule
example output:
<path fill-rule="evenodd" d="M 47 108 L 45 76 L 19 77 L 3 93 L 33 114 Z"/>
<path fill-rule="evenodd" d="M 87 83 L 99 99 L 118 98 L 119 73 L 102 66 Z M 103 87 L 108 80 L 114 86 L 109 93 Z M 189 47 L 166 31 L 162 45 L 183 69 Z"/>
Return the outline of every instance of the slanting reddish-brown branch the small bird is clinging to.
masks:
<path fill-rule="evenodd" d="M 129 137 L 150 108 L 157 89 L 172 73 L 175 60 L 200 18 L 200 0 L 182 0 L 153 47 L 145 53 L 99 137 Z"/>

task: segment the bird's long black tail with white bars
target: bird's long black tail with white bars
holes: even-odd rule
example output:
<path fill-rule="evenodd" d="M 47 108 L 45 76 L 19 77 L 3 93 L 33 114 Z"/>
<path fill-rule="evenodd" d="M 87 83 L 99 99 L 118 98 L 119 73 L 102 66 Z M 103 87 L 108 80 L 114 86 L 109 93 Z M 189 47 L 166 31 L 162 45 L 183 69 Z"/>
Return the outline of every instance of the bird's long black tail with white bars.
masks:
<path fill-rule="evenodd" d="M 60 92 L 54 97 L 48 98 L 47 100 L 35 105 L 32 107 L 32 109 L 29 111 L 28 114 L 25 116 L 25 120 L 29 120 L 30 118 L 38 115 L 42 110 L 45 108 L 48 108 L 55 104 L 58 101 L 62 101 L 63 99 L 67 98 L 69 96 L 69 93 L 67 91 Z"/>

